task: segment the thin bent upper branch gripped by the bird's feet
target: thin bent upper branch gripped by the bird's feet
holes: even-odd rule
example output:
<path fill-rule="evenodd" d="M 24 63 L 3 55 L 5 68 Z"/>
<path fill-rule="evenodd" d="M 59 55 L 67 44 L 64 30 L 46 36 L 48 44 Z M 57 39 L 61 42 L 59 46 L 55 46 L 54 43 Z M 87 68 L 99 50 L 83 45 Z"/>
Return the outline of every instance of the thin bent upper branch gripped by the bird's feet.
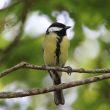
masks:
<path fill-rule="evenodd" d="M 94 69 L 94 70 L 86 70 L 86 69 L 83 69 L 83 68 L 79 68 L 79 69 L 72 69 L 70 67 L 63 67 L 63 68 L 60 68 L 60 67 L 49 67 L 49 66 L 37 66 L 37 65 L 32 65 L 30 63 L 27 63 L 27 62 L 21 62 L 21 63 L 18 63 L 17 65 L 11 67 L 11 68 L 8 68 L 6 69 L 5 71 L 1 72 L 0 73 L 0 78 L 8 75 L 8 74 L 11 74 L 12 72 L 16 71 L 16 70 L 19 70 L 19 69 L 24 69 L 24 68 L 27 68 L 27 69 L 35 69 L 35 70 L 55 70 L 55 71 L 62 71 L 62 72 L 67 72 L 67 73 L 74 73 L 74 72 L 77 72 L 77 73 L 90 73 L 90 74 L 95 74 L 95 73 L 103 73 L 103 74 L 109 74 L 110 73 L 110 69 Z"/>

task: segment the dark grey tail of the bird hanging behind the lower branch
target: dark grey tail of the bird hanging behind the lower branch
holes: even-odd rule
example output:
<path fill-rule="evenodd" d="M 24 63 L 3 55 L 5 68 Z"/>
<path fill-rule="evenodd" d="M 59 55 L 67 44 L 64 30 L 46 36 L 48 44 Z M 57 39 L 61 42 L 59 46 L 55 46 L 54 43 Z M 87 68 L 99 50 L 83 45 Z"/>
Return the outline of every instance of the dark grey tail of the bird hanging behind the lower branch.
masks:
<path fill-rule="evenodd" d="M 60 73 L 58 73 L 56 71 L 49 71 L 49 73 L 53 80 L 54 85 L 61 84 L 61 74 Z M 63 105 L 65 103 L 62 90 L 54 91 L 54 101 L 55 101 L 56 105 L 59 105 L 59 104 Z"/>

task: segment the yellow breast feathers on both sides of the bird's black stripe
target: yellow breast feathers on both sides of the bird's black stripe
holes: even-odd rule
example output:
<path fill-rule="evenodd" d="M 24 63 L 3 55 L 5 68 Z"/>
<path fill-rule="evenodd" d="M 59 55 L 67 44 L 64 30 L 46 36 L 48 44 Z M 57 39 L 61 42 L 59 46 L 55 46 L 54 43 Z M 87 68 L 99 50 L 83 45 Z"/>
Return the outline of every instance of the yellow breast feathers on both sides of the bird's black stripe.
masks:
<path fill-rule="evenodd" d="M 62 66 L 65 64 L 68 57 L 69 40 L 67 36 L 63 36 L 59 47 L 57 47 L 58 38 L 56 33 L 50 33 L 44 38 L 43 49 L 44 49 L 44 61 L 46 65 L 57 66 L 57 55 L 56 49 L 59 49 L 59 64 Z"/>

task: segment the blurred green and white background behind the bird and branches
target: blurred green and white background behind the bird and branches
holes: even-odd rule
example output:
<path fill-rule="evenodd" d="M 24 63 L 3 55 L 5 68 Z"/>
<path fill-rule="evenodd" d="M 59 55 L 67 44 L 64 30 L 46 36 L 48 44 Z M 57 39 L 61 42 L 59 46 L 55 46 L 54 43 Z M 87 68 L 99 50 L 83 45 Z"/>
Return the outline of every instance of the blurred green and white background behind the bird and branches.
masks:
<path fill-rule="evenodd" d="M 72 26 L 66 65 L 73 68 L 110 67 L 110 0 L 1 0 L 0 71 L 21 61 L 44 65 L 42 42 L 52 22 Z M 66 73 L 62 82 L 93 75 Z M 18 70 L 0 79 L 0 91 L 48 87 L 45 71 Z M 64 90 L 64 106 L 53 94 L 0 99 L 0 110 L 110 110 L 110 80 Z M 100 100 L 99 100 L 100 99 Z"/>

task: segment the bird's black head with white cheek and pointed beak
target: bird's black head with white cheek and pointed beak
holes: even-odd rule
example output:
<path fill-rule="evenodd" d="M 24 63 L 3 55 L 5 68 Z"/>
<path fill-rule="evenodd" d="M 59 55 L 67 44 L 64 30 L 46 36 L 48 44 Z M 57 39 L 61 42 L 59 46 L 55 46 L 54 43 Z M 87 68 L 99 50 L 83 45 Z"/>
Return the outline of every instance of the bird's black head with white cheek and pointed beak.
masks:
<path fill-rule="evenodd" d="M 48 27 L 48 29 L 46 31 L 46 34 L 54 32 L 58 36 L 62 37 L 62 36 L 66 35 L 66 30 L 69 29 L 69 28 L 70 28 L 70 26 L 66 26 L 66 25 L 64 25 L 62 23 L 55 22 L 55 23 L 51 24 Z"/>

